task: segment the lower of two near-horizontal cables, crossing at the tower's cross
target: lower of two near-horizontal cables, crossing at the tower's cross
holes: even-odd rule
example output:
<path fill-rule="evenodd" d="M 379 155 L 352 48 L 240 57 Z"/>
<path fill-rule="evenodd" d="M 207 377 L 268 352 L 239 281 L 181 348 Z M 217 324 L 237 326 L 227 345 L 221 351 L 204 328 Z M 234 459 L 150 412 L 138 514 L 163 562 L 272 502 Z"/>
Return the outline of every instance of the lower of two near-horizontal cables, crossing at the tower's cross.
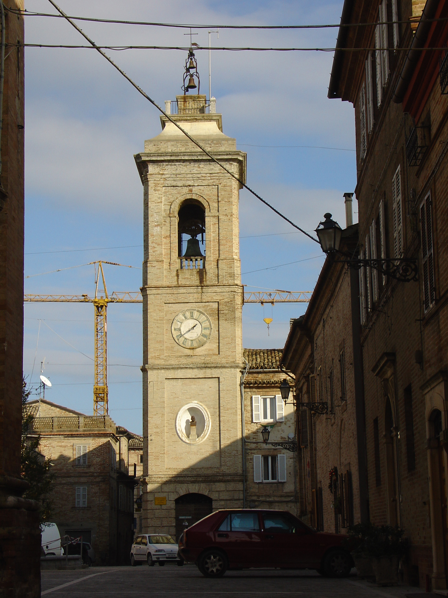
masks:
<path fill-rule="evenodd" d="M 51 0 L 49 0 L 51 1 Z M 189 46 L 182 46 L 182 45 L 79 45 L 79 44 L 8 44 L 8 47 L 24 47 L 24 48 L 66 48 L 68 50 L 76 50 L 79 48 L 83 48 L 84 50 L 182 50 L 188 51 L 190 48 Z M 440 48 L 416 48 L 423 51 L 426 50 L 446 50 L 446 47 Z M 232 52 L 370 52 L 370 51 L 382 51 L 382 50 L 390 50 L 390 48 L 377 48 L 377 47 L 363 47 L 363 48 L 255 48 L 255 47 L 211 47 L 209 48 L 208 45 L 198 45 L 195 47 L 195 50 L 226 50 Z M 409 48 L 394 48 L 395 52 L 407 52 Z M 106 56 L 106 54 L 103 54 Z M 112 61 L 109 61 L 112 62 Z M 118 68 L 118 67 L 117 67 Z"/>

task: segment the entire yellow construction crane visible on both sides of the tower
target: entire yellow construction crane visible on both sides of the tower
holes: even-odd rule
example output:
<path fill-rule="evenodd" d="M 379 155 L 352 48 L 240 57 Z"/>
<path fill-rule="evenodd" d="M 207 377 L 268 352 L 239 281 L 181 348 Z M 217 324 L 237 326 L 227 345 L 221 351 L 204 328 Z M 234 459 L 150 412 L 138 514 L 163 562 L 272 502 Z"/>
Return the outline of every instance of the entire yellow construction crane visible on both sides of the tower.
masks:
<path fill-rule="evenodd" d="M 95 282 L 95 296 L 88 295 L 24 295 L 24 301 L 39 303 L 93 303 L 95 314 L 95 355 L 94 355 L 94 384 L 93 384 L 93 414 L 96 416 L 108 413 L 108 345 L 107 345 L 107 309 L 109 303 L 142 303 L 140 291 L 114 291 L 109 297 L 103 264 L 124 266 L 108 261 L 94 261 L 86 265 L 98 264 Z M 130 268 L 131 266 L 125 266 Z M 101 279 L 100 279 L 101 274 Z M 99 290 L 99 283 L 103 284 L 103 295 Z M 251 291 L 244 293 L 244 303 L 308 303 L 312 291 Z"/>

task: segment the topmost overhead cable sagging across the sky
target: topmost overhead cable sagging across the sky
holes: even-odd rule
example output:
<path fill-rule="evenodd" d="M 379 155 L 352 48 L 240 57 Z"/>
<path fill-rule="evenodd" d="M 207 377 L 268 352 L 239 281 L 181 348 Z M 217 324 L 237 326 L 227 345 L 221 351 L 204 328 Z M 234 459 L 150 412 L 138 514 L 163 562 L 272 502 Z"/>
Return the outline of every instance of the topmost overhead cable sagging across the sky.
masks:
<path fill-rule="evenodd" d="M 28 11 L 26 9 L 23 11 L 7 7 L 5 7 L 5 9 L 10 11 L 11 13 L 19 14 L 23 17 L 52 17 L 53 19 L 70 19 L 73 21 L 90 21 L 93 23 L 112 23 L 118 25 L 145 25 L 151 27 L 168 27 L 176 29 L 339 29 L 350 27 L 372 27 L 375 25 L 394 25 L 395 23 L 397 23 L 398 25 L 410 25 L 412 22 L 419 22 L 419 19 L 415 18 L 412 20 L 409 19 L 404 21 L 391 20 L 375 23 L 323 23 L 321 25 L 198 25 L 192 23 L 158 23 L 152 21 L 128 21 L 122 19 L 97 19 L 95 17 L 67 16 L 66 14 L 37 13 L 34 11 Z M 435 21 L 446 21 L 447 19 L 448 17 L 439 17 L 438 19 L 426 19 L 426 22 L 431 23 Z"/>

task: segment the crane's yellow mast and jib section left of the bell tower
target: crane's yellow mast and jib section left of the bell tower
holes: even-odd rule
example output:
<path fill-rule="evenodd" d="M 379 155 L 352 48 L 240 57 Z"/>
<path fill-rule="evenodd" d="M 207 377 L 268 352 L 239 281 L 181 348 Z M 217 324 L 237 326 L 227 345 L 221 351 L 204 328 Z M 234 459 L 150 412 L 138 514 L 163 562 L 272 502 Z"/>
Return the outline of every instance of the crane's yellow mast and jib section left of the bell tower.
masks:
<path fill-rule="evenodd" d="M 108 344 L 107 344 L 107 309 L 108 303 L 142 303 L 142 294 L 138 292 L 113 292 L 109 297 L 103 264 L 124 266 L 108 261 L 94 261 L 98 264 L 95 282 L 95 296 L 88 295 L 24 295 L 24 301 L 38 301 L 40 303 L 93 303 L 95 314 L 95 355 L 94 355 L 94 383 L 93 383 L 93 414 L 96 416 L 108 413 Z M 131 266 L 125 266 L 131 267 Z M 100 280 L 101 274 L 101 280 Z M 102 282 L 103 289 L 99 284 Z M 101 294 L 103 292 L 103 294 Z"/>

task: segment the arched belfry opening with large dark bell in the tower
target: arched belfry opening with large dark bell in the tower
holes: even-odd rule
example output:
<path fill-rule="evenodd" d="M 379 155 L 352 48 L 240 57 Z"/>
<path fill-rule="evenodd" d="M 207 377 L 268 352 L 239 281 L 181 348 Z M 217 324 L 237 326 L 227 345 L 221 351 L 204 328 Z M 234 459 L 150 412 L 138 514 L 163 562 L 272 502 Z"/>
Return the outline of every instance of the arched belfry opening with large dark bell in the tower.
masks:
<path fill-rule="evenodd" d="M 194 200 L 182 204 L 177 223 L 178 257 L 205 257 L 205 210 Z"/>

